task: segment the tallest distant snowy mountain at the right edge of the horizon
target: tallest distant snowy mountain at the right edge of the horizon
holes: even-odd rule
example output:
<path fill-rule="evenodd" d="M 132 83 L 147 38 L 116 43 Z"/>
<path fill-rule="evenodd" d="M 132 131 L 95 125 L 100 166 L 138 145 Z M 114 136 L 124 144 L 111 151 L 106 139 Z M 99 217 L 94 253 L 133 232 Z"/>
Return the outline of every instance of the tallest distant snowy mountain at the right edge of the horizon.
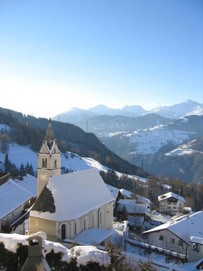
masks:
<path fill-rule="evenodd" d="M 186 102 L 180 104 L 174 104 L 171 106 L 159 106 L 152 111 L 146 113 L 156 113 L 161 115 L 162 117 L 174 118 L 178 119 L 181 117 L 189 116 L 189 115 L 201 115 L 203 114 L 203 104 L 200 104 L 196 101 L 187 100 Z"/>

